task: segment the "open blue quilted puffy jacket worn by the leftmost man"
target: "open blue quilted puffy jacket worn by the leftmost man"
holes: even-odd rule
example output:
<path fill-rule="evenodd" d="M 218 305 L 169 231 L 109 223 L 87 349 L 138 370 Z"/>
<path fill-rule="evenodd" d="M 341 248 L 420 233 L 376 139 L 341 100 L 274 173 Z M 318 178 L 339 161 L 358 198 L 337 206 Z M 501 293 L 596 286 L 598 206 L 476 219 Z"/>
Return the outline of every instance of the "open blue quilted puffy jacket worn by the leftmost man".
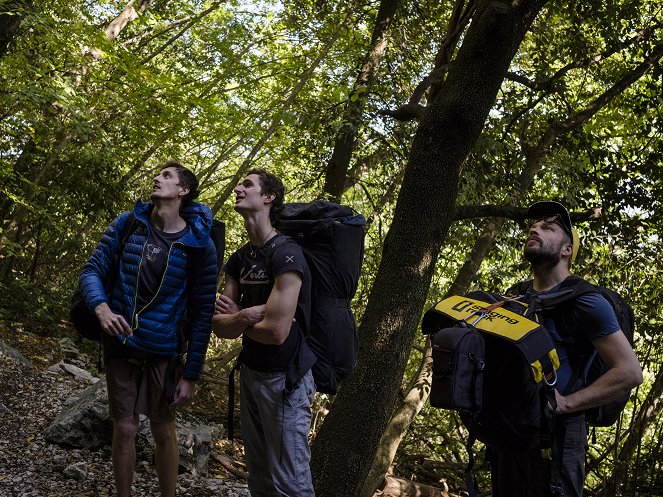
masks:
<path fill-rule="evenodd" d="M 188 308 L 190 336 L 183 377 L 197 380 L 207 353 L 216 298 L 216 250 L 209 237 L 212 212 L 209 207 L 197 202 L 182 207 L 180 215 L 186 220 L 189 229 L 184 236 L 173 242 L 159 290 L 138 312 L 138 273 L 150 230 L 152 207 L 140 200 L 134 206 L 138 228 L 128 238 L 122 252 L 112 298 L 106 295 L 103 282 L 113 264 L 122 233 L 128 227 L 128 211 L 120 214 L 108 226 L 97 248 L 85 263 L 80 276 L 81 288 L 90 309 L 106 302 L 113 312 L 124 316 L 130 324 L 133 336 L 118 339 L 129 347 L 155 355 L 177 354 L 177 330 Z"/>

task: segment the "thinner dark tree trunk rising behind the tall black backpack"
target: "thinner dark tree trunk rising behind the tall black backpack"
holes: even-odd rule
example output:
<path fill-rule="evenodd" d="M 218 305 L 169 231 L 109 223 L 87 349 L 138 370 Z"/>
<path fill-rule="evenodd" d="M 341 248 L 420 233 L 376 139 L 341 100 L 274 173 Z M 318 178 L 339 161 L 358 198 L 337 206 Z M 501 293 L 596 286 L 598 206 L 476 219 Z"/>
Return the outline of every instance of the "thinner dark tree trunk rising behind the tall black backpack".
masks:
<path fill-rule="evenodd" d="M 366 107 L 366 99 L 380 67 L 380 61 L 387 50 L 391 22 L 399 4 L 399 0 L 382 0 L 380 2 L 380 9 L 373 28 L 371 48 L 349 95 L 343 116 L 344 124 L 334 140 L 334 150 L 325 174 L 324 192 L 329 198 L 336 201 L 340 200 L 345 191 L 345 178 L 350 167 L 352 151 Z"/>

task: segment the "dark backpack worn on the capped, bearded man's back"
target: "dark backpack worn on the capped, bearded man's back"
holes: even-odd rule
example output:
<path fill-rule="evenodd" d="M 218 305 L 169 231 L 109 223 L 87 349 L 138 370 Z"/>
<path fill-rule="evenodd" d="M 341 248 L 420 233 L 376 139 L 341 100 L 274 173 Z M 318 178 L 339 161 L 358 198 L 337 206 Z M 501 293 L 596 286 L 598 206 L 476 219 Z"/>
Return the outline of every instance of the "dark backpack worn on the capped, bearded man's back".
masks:
<path fill-rule="evenodd" d="M 526 295 L 532 288 L 532 281 L 520 282 L 507 290 L 507 294 Z M 588 281 L 578 277 L 569 276 L 560 285 L 559 291 L 553 294 L 543 294 L 530 299 L 530 306 L 534 312 L 553 313 L 555 327 L 557 332 L 563 337 L 565 346 L 574 346 L 574 327 L 573 327 L 573 303 L 579 296 L 598 292 L 612 306 L 617 322 L 626 336 L 628 342 L 633 346 L 633 336 L 635 332 L 635 315 L 633 308 L 613 290 L 609 290 L 600 285 L 593 285 Z M 577 388 L 584 388 L 591 385 L 607 371 L 603 360 L 599 357 L 596 350 L 581 358 L 580 364 L 573 371 L 570 385 L 576 385 Z M 594 407 L 585 412 L 587 421 L 592 426 L 611 426 L 620 417 L 626 406 L 630 393 L 608 402 L 607 404 Z"/>

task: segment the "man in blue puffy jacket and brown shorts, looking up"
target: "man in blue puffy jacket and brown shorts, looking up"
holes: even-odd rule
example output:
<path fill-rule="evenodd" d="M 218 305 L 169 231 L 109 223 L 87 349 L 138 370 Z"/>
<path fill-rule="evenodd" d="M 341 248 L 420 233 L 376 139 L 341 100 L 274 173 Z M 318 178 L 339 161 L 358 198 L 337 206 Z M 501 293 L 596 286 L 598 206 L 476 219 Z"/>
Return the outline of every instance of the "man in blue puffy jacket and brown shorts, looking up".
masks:
<path fill-rule="evenodd" d="M 129 496 L 136 462 L 139 414 L 150 420 L 162 496 L 174 496 L 179 466 L 174 408 L 191 400 L 209 342 L 216 294 L 212 212 L 193 202 L 198 181 L 167 162 L 154 178 L 151 202 L 136 202 L 106 229 L 81 272 L 85 301 L 99 318 L 109 410 L 113 419 L 113 473 L 119 497 Z M 119 259 L 115 254 L 130 233 Z M 110 295 L 109 271 L 118 274 Z M 186 313 L 186 363 L 180 322 Z M 177 374 L 177 376 L 176 376 Z M 171 386 L 172 398 L 167 390 Z"/>

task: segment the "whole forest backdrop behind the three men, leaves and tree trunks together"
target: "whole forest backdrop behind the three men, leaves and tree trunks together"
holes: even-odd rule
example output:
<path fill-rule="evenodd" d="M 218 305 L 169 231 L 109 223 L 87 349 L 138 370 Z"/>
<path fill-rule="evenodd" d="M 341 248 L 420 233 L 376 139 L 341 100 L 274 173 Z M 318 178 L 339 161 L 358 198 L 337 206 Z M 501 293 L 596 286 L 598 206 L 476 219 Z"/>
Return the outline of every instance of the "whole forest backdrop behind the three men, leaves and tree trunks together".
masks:
<path fill-rule="evenodd" d="M 66 319 L 102 230 L 169 159 L 201 180 L 227 256 L 232 188 L 267 168 L 289 200 L 368 220 L 359 365 L 323 399 L 317 492 L 370 496 L 390 466 L 462 488 L 421 315 L 527 278 L 526 207 L 555 199 L 581 234 L 573 272 L 634 307 L 645 373 L 597 430 L 587 495 L 661 495 L 661 57 L 649 0 L 2 0 L 0 318 Z"/>

